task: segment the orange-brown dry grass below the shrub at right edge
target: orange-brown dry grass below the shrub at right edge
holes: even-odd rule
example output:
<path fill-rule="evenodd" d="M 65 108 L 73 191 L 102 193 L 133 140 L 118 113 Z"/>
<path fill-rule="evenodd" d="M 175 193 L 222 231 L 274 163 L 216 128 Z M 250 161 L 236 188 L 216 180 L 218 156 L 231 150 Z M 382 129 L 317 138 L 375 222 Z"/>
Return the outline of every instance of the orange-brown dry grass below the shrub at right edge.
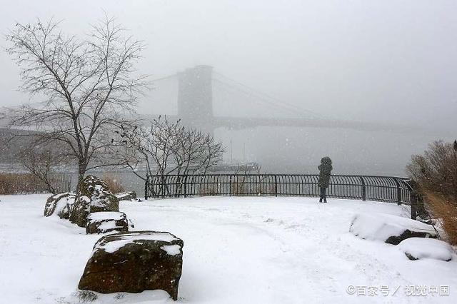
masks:
<path fill-rule="evenodd" d="M 436 193 L 426 193 L 427 203 L 434 218 L 441 219 L 448 243 L 457 245 L 457 202 Z"/>

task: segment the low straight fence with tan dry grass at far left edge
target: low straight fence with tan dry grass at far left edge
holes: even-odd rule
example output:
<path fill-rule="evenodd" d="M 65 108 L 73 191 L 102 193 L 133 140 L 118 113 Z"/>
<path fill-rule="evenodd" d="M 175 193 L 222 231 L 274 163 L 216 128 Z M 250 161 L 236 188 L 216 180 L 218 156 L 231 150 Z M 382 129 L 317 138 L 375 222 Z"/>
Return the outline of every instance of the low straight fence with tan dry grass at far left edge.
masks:
<path fill-rule="evenodd" d="M 68 192 L 71 174 L 54 173 L 49 176 L 56 192 Z M 34 194 L 49 192 L 46 184 L 30 173 L 0 173 L 0 194 Z"/>

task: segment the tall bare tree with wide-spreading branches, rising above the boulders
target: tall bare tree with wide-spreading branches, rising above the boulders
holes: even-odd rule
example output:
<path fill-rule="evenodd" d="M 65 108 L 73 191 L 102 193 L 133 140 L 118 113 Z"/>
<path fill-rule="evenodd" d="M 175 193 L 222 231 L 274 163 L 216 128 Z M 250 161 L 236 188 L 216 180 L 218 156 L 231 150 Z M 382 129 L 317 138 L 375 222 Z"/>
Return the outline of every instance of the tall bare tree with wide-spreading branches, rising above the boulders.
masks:
<path fill-rule="evenodd" d="M 136 93 L 146 86 L 144 76 L 134 76 L 144 46 L 125 33 L 106 18 L 81 40 L 64 35 L 53 20 L 16 24 L 6 35 L 6 51 L 21 68 L 21 88 L 44 99 L 11 108 L 10 126 L 68 146 L 79 183 L 89 169 L 116 163 L 103 157 L 114 144 L 110 133 L 131 123 L 124 117 L 134 112 Z"/>

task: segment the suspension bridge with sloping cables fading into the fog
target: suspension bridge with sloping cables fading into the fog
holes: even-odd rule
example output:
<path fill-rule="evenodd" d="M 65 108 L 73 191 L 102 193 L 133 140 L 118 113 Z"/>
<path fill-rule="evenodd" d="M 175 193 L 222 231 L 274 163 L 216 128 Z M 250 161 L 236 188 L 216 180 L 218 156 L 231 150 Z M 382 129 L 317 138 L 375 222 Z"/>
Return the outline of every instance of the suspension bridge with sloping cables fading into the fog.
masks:
<path fill-rule="evenodd" d="M 310 128 L 349 128 L 358 131 L 388 131 L 395 133 L 422 133 L 417 126 L 401 126 L 368 121 L 350 121 L 323 116 L 296 104 L 287 103 L 250 86 L 219 74 L 212 66 L 195 66 L 177 74 L 154 80 L 154 88 L 161 90 L 164 82 L 174 83 L 179 118 L 186 126 L 213 133 L 215 128 L 254 128 L 257 126 L 289 126 Z M 176 88 L 177 87 L 177 88 Z M 215 115 L 214 105 L 225 103 L 225 108 L 236 109 L 238 116 Z M 252 110 L 255 107 L 256 110 Z M 251 108 L 251 110 L 246 110 Z M 257 111 L 258 110 L 258 111 Z M 273 111 L 273 115 L 259 113 Z"/>

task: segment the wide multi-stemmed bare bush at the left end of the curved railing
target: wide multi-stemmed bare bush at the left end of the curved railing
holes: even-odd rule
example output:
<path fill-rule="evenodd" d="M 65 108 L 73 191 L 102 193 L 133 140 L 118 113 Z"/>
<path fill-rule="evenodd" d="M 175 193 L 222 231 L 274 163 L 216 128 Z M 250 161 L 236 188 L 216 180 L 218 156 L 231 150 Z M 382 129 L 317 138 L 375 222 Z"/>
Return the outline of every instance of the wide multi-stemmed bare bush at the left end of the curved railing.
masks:
<path fill-rule="evenodd" d="M 222 159 L 224 147 L 210 134 L 181 126 L 180 121 L 170 122 L 165 118 L 154 119 L 149 127 L 123 128 L 120 141 L 126 146 L 124 163 L 146 181 L 146 176 L 137 173 L 145 164 L 146 173 L 156 176 L 169 194 L 166 176 L 181 176 L 206 173 Z M 179 191 L 178 187 L 178 191 Z"/>

